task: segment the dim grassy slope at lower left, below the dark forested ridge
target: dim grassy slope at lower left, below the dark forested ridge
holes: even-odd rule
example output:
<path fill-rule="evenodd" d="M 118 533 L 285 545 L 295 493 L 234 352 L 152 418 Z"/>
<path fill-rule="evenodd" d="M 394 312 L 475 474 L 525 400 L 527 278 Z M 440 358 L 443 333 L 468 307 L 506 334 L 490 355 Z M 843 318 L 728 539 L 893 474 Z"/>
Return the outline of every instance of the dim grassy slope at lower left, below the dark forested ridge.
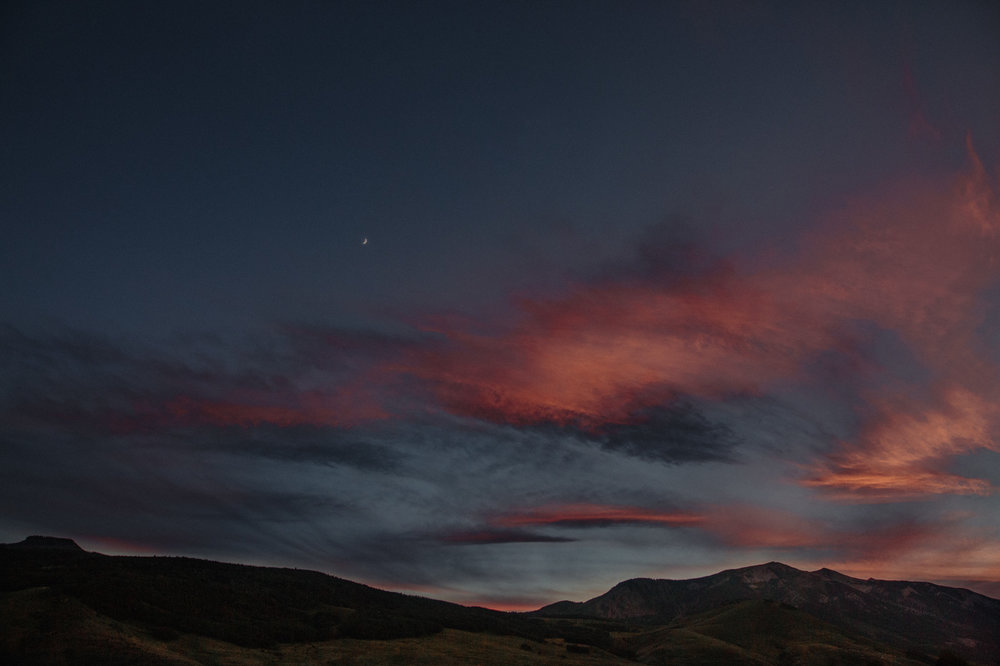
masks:
<path fill-rule="evenodd" d="M 627 664 L 596 648 L 568 652 L 560 639 L 526 641 L 445 629 L 387 641 L 339 639 L 249 648 L 180 634 L 164 640 L 145 627 L 113 620 L 47 588 L 0 596 L 0 662 L 5 664 Z"/>

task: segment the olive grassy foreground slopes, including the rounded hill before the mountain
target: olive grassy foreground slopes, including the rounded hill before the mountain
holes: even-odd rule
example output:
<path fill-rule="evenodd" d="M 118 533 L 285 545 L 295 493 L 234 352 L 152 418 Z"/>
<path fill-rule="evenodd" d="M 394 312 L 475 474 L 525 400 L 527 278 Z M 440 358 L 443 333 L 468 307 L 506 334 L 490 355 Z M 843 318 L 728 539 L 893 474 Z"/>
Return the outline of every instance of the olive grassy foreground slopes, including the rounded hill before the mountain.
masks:
<path fill-rule="evenodd" d="M 190 633 L 157 632 L 101 615 L 49 588 L 0 596 L 0 662 L 12 664 L 626 664 L 592 646 L 564 639 L 445 629 L 393 640 L 341 638 L 267 648 L 238 646 Z M 812 616 L 773 602 L 747 601 L 669 627 L 615 634 L 619 647 L 647 664 L 896 664 L 918 662 L 845 636 Z M 585 650 L 586 652 L 581 652 Z"/>

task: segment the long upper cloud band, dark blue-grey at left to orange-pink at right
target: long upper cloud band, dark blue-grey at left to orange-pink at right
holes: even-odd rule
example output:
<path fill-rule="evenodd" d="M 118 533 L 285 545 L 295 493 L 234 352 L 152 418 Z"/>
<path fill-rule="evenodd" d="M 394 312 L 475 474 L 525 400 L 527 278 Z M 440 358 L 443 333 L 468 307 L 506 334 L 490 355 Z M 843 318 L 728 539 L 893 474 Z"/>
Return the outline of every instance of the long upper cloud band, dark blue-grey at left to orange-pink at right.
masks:
<path fill-rule="evenodd" d="M 666 225 L 632 266 L 521 298 L 503 322 L 428 316 L 405 335 L 289 326 L 171 351 L 7 328 L 0 408 L 25 427 L 114 435 L 458 416 L 681 464 L 739 459 L 740 424 L 704 405 L 797 387 L 857 422 L 803 468 L 806 487 L 863 501 L 988 493 L 947 471 L 954 456 L 996 450 L 1000 403 L 981 334 L 1000 208 L 968 149 L 964 179 L 859 198 L 798 252 L 723 259 Z"/>

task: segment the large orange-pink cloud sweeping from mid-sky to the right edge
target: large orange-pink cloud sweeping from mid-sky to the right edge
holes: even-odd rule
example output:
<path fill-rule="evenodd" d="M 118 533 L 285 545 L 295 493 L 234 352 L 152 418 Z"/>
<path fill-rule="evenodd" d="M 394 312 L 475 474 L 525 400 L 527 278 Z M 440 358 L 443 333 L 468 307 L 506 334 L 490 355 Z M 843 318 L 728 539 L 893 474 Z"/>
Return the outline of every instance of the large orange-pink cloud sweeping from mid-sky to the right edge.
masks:
<path fill-rule="evenodd" d="M 1000 450 L 998 368 L 981 337 L 983 294 L 1000 278 L 1000 206 L 968 148 L 963 179 L 856 201 L 783 264 L 577 285 L 522 303 L 522 319 L 500 335 L 439 328 L 446 345 L 396 370 L 453 413 L 600 430 L 676 395 L 808 383 L 812 360 L 853 354 L 851 390 L 873 408 L 859 413 L 857 438 L 802 482 L 864 500 L 990 492 L 943 470 L 952 456 Z M 891 333 L 926 379 L 914 384 L 877 356 L 861 362 L 858 322 Z"/>

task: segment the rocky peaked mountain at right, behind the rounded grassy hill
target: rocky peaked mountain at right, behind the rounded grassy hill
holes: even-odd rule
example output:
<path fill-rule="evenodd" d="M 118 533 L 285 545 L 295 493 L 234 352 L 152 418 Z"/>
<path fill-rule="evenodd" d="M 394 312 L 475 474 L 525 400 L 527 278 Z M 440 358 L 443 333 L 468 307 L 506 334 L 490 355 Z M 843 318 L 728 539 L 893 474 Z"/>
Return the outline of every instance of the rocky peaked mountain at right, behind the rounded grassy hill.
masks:
<path fill-rule="evenodd" d="M 902 646 L 911 654 L 947 648 L 971 659 L 1000 662 L 1000 600 L 932 583 L 862 580 L 830 569 L 800 571 L 779 562 L 690 580 L 636 578 L 589 601 L 561 601 L 534 614 L 667 624 L 745 600 L 805 611 L 842 631 Z"/>

